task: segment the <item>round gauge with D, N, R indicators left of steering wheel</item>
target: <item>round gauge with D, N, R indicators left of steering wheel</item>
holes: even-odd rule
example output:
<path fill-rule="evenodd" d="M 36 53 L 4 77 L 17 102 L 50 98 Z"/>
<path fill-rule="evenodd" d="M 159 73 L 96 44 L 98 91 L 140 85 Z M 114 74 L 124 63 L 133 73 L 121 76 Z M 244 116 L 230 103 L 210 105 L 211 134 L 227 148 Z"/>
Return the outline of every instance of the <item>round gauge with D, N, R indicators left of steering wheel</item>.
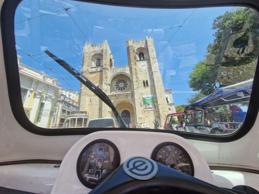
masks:
<path fill-rule="evenodd" d="M 87 144 L 77 159 L 77 176 L 84 186 L 93 189 L 120 165 L 117 147 L 107 139 Z"/>

